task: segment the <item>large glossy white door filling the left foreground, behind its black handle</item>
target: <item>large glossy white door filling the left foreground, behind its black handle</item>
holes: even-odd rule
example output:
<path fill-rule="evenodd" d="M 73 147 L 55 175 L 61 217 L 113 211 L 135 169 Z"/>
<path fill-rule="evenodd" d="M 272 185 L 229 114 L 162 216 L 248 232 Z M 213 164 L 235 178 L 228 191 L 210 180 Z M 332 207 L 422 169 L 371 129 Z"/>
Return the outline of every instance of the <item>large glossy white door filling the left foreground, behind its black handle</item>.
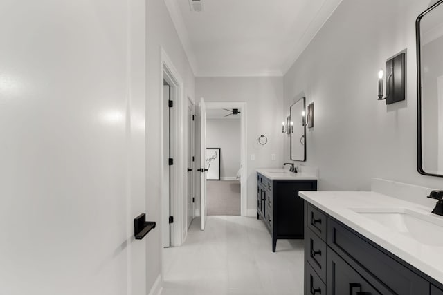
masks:
<path fill-rule="evenodd" d="M 146 294 L 145 1 L 0 3 L 0 294 Z"/>

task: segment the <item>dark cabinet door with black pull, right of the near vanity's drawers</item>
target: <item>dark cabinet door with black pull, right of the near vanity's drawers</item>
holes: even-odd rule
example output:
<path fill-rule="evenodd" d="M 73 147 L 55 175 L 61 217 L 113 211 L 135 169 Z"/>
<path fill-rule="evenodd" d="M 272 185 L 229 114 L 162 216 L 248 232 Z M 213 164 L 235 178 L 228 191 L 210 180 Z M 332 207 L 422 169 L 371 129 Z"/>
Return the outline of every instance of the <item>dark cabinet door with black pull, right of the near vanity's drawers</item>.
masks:
<path fill-rule="evenodd" d="M 326 285 L 328 295 L 381 294 L 329 247 L 327 247 Z"/>

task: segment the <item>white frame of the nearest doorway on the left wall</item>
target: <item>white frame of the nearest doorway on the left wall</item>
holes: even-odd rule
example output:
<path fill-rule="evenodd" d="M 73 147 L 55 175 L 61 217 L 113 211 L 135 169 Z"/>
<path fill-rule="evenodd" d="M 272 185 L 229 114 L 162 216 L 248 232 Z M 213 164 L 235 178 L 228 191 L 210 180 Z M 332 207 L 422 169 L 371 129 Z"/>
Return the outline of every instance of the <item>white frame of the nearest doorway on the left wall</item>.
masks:
<path fill-rule="evenodd" d="M 165 225 L 163 222 L 168 216 L 165 216 L 165 208 L 163 208 L 163 202 L 161 202 L 161 231 L 162 231 L 162 242 L 161 247 L 163 247 L 163 231 L 170 226 L 170 245 L 172 247 L 180 246 L 183 243 L 183 238 L 186 233 L 183 232 L 183 196 L 186 195 L 183 191 L 186 189 L 184 178 L 185 175 L 183 171 L 186 171 L 184 167 L 184 160 L 186 158 L 186 153 L 181 146 L 184 144 L 184 120 L 186 115 L 184 111 L 186 108 L 183 108 L 183 79 L 179 75 L 179 72 L 175 68 L 172 63 L 170 57 L 165 52 L 163 47 L 160 48 L 161 51 L 161 81 L 160 83 L 163 85 L 163 80 L 168 82 L 171 86 L 171 95 L 170 99 L 174 102 L 174 106 L 171 109 L 171 130 L 172 134 L 170 136 L 171 141 L 171 154 L 174 159 L 174 164 L 170 167 L 171 170 L 171 178 L 170 178 L 170 213 L 174 216 L 174 222 L 170 226 L 169 223 Z M 160 115 L 161 115 L 161 160 L 166 161 L 168 156 L 165 155 L 165 146 L 163 144 L 163 140 L 165 134 L 167 134 L 165 130 L 165 126 L 163 124 L 163 114 L 164 114 L 164 102 L 163 102 L 163 86 L 161 87 L 160 93 Z M 149 138 L 147 138 L 149 144 Z M 161 201 L 163 198 L 167 198 L 165 193 L 168 191 L 165 188 L 165 171 L 164 165 L 161 165 Z M 163 251 L 162 251 L 163 255 Z M 162 259 L 164 261 L 164 259 Z M 163 265 L 164 266 L 164 265 Z M 163 267 L 164 270 L 164 267 Z"/>

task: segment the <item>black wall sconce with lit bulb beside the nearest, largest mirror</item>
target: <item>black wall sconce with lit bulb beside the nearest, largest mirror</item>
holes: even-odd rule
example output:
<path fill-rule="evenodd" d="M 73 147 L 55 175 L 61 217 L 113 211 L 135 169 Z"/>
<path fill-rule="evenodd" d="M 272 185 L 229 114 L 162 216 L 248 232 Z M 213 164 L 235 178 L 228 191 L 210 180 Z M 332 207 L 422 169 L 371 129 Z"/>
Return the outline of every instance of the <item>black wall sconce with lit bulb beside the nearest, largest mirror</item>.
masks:
<path fill-rule="evenodd" d="M 386 61 L 386 97 L 383 97 L 383 70 L 379 71 L 379 98 L 386 104 L 405 99 L 405 53 L 400 53 Z"/>

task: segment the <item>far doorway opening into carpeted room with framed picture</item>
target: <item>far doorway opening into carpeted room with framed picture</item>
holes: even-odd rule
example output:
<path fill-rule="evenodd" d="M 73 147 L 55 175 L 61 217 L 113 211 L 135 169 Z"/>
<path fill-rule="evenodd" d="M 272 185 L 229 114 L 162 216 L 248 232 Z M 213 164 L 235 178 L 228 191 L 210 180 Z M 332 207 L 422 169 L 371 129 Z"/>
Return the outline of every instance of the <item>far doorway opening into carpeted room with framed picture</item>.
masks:
<path fill-rule="evenodd" d="M 204 105 L 205 145 L 201 149 L 207 149 L 207 156 L 201 166 L 208 169 L 209 180 L 200 183 L 204 189 L 201 196 L 206 198 L 201 218 L 247 216 L 246 102 L 206 102 Z M 215 171 L 210 171 L 211 166 Z"/>

